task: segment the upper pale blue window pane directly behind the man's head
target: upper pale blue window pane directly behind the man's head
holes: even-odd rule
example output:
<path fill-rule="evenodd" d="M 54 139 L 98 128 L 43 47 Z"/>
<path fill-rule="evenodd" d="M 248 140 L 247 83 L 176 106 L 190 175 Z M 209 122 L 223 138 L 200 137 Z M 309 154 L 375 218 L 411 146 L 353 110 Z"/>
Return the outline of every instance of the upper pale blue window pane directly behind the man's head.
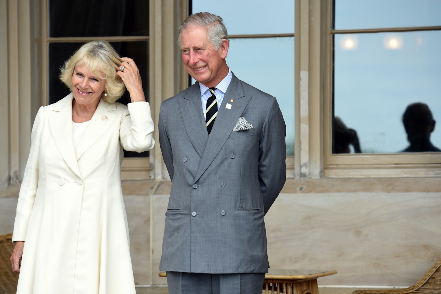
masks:
<path fill-rule="evenodd" d="M 224 19 L 228 35 L 294 33 L 294 0 L 193 0 L 192 13 L 208 11 Z"/>

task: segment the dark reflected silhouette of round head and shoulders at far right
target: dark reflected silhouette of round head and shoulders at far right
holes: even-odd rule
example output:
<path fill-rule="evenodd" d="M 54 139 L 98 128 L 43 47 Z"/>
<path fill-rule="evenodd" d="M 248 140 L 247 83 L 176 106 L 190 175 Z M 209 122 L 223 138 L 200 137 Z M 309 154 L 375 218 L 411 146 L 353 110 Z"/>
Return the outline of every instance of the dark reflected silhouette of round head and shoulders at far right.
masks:
<path fill-rule="evenodd" d="M 401 152 L 441 152 L 430 142 L 435 120 L 427 104 L 409 104 L 403 114 L 403 124 L 410 145 Z"/>

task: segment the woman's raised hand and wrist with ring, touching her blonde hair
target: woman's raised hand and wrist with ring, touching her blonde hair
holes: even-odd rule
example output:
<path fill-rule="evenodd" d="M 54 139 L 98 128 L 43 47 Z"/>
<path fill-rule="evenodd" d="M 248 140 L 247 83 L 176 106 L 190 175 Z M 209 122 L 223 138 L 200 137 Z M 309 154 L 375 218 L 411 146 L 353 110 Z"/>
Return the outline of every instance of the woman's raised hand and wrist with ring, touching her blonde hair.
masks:
<path fill-rule="evenodd" d="M 121 63 L 120 68 L 124 68 L 122 71 L 117 71 L 116 74 L 122 78 L 126 85 L 127 91 L 130 93 L 131 102 L 145 101 L 146 97 L 142 90 L 141 76 L 139 75 L 139 70 L 135 61 L 128 57 L 122 57 L 121 59 L 123 62 Z"/>

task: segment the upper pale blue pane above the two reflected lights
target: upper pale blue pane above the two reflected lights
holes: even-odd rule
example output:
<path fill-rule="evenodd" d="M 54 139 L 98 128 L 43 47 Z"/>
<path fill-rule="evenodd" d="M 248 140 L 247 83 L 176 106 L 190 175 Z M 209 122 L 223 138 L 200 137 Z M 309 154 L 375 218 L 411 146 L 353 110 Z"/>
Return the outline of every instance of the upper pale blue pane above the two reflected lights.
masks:
<path fill-rule="evenodd" d="M 335 0 L 335 29 L 440 26 L 439 0 Z"/>

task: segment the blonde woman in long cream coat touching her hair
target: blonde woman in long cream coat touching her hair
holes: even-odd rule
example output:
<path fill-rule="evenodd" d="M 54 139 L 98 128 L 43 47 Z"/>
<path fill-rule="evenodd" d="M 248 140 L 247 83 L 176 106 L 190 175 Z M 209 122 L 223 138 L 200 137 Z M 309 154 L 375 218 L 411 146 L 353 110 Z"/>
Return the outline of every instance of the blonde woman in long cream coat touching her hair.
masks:
<path fill-rule="evenodd" d="M 19 194 L 17 293 L 135 294 L 120 166 L 123 149 L 154 145 L 138 68 L 93 41 L 60 78 L 72 93 L 38 111 Z M 125 88 L 128 107 L 115 102 Z"/>

